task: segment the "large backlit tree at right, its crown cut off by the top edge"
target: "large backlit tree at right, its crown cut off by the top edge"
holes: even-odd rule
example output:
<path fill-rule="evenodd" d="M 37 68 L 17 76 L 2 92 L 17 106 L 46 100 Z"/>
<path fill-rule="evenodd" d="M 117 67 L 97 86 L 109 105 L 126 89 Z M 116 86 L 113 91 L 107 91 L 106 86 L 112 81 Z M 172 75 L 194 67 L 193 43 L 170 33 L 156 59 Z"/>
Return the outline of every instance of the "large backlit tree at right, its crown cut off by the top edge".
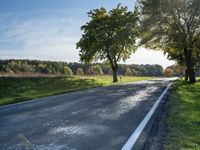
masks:
<path fill-rule="evenodd" d="M 187 67 L 195 78 L 196 47 L 200 36 L 199 0 L 139 0 L 141 45 L 162 49 Z"/>

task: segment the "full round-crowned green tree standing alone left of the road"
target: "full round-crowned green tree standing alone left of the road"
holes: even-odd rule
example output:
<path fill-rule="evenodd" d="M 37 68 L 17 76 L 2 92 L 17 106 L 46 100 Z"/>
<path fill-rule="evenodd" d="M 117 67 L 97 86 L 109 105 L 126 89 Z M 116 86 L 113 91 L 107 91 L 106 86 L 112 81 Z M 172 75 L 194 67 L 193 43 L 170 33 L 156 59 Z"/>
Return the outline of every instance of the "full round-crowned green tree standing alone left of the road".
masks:
<path fill-rule="evenodd" d="M 81 27 L 84 34 L 77 43 L 80 59 L 89 63 L 106 60 L 113 71 L 113 82 L 117 82 L 118 62 L 125 61 L 136 50 L 137 12 L 130 12 L 120 4 L 106 11 L 94 9 L 88 13 L 91 20 Z"/>

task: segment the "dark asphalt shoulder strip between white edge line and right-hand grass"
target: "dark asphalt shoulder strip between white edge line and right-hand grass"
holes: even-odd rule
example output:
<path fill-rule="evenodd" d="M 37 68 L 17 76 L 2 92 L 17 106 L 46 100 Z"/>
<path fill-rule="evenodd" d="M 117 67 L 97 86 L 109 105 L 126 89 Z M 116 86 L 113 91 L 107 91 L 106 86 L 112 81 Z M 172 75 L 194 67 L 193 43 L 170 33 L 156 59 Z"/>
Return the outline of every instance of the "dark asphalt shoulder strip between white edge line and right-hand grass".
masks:
<path fill-rule="evenodd" d="M 133 149 L 163 150 L 167 137 L 167 118 L 169 115 L 171 87 L 163 97 L 156 112 L 140 135 Z"/>

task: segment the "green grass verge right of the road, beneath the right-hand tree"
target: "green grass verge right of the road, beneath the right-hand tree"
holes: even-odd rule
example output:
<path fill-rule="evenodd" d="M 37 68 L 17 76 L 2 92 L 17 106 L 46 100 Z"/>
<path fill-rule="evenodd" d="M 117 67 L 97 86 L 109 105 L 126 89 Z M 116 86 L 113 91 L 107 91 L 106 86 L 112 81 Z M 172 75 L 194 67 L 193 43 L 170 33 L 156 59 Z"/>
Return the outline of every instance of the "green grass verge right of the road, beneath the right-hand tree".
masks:
<path fill-rule="evenodd" d="M 200 80 L 195 84 L 175 83 L 168 129 L 166 149 L 200 150 Z"/>

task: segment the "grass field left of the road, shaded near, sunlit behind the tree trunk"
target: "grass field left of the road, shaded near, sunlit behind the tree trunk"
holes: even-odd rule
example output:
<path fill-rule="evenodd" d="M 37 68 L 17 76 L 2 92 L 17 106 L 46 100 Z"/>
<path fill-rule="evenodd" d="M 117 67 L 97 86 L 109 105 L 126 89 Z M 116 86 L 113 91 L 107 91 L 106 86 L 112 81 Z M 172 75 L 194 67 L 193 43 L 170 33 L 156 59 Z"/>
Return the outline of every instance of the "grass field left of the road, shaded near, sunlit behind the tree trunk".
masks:
<path fill-rule="evenodd" d="M 123 77 L 122 82 L 152 77 Z M 121 83 L 121 82 L 120 82 Z M 13 104 L 98 86 L 112 85 L 111 76 L 100 77 L 0 77 L 0 105 Z"/>

